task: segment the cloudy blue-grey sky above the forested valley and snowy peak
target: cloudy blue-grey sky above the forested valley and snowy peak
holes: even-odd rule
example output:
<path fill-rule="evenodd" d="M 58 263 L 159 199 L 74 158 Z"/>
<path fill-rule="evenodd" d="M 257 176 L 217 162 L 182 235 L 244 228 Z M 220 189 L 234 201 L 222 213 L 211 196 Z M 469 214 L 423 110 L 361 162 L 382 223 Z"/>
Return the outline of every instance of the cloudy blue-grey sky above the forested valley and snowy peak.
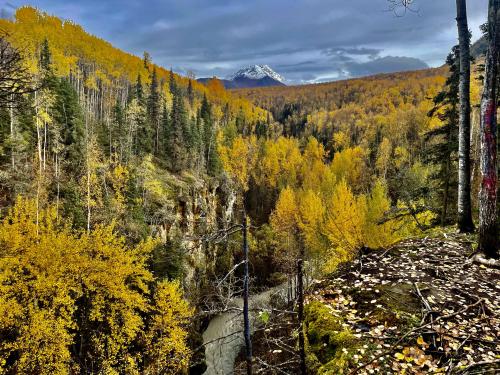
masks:
<path fill-rule="evenodd" d="M 225 77 L 268 64 L 290 83 L 439 66 L 456 43 L 455 0 L 413 0 L 395 15 L 387 0 L 0 0 L 71 19 L 167 68 Z M 469 0 L 473 39 L 487 0 Z"/>

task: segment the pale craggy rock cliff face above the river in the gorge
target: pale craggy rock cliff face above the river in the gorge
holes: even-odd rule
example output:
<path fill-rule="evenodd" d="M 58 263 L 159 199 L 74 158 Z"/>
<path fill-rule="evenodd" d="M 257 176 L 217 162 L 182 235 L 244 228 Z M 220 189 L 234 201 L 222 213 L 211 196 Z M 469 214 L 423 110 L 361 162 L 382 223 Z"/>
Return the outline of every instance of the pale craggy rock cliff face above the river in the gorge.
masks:
<path fill-rule="evenodd" d="M 223 247 L 211 241 L 211 235 L 237 220 L 241 197 L 227 180 L 192 176 L 169 179 L 166 190 L 168 198 L 155 205 L 156 212 L 151 214 L 155 218 L 152 233 L 170 244 L 170 251 L 181 251 L 183 283 L 189 294 L 200 280 L 213 275 Z"/>

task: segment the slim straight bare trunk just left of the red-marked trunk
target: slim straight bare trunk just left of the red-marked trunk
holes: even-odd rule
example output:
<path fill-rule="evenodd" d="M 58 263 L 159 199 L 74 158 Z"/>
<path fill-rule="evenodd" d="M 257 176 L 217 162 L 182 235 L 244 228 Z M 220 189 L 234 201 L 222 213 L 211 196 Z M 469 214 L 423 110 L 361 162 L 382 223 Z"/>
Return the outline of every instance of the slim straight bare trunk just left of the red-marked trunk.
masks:
<path fill-rule="evenodd" d="M 460 47 L 460 120 L 458 135 L 458 230 L 472 232 L 470 185 L 470 38 L 465 0 L 457 1 L 457 26 Z"/>

